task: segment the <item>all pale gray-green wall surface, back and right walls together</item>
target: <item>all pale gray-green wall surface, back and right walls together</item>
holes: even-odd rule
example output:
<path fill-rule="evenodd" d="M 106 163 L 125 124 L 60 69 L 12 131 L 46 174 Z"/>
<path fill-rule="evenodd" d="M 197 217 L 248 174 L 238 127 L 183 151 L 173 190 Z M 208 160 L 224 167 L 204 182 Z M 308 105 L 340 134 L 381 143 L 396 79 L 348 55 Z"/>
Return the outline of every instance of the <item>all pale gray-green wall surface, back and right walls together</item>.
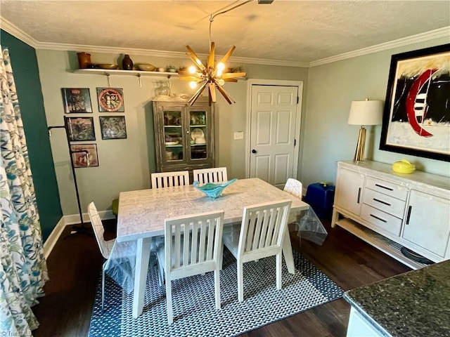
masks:
<path fill-rule="evenodd" d="M 327 180 L 335 181 L 336 161 L 351 159 L 356 146 L 358 126 L 347 125 L 349 106 L 352 100 L 385 99 L 390 57 L 394 53 L 416 50 L 446 43 L 436 39 L 411 46 L 393 48 L 327 65 L 311 67 L 276 67 L 264 65 L 240 65 L 252 79 L 280 79 L 303 81 L 302 134 L 300 135 L 299 175 L 304 186 Z M 107 79 L 98 74 L 75 74 L 77 57 L 74 52 L 38 50 L 39 77 L 44 97 L 45 118 L 37 128 L 46 138 L 46 124 L 63 124 L 63 100 L 60 88 L 89 88 L 94 109 L 94 125 L 100 166 L 77 169 L 83 211 L 89 201 L 94 200 L 98 209 L 110 208 L 112 199 L 121 191 L 139 190 L 150 185 L 150 172 L 155 169 L 153 123 L 150 111 L 155 88 L 164 77 L 142 77 L 142 88 L 136 77 L 111 76 L 111 86 L 124 90 L 124 115 L 127 119 L 128 137 L 125 140 L 101 140 L 98 117 L 110 115 L 98 112 L 96 88 L 108 86 Z M 92 53 L 97 63 L 118 63 L 122 55 Z M 131 55 L 135 63 L 150 62 L 154 65 L 189 65 L 189 60 L 149 58 Z M 230 65 L 236 66 L 236 65 Z M 192 93 L 185 81 L 172 79 L 172 92 Z M 245 178 L 245 142 L 233 140 L 233 132 L 245 130 L 248 107 L 248 84 L 226 84 L 226 90 L 236 100 L 228 105 L 219 95 L 216 105 L 217 165 L 227 166 L 229 176 Z M 87 114 L 84 114 L 85 116 Z M 75 114 L 74 114 L 75 116 Z M 77 114 L 82 116 L 82 114 Z M 366 157 L 392 163 L 402 158 L 413 161 L 418 169 L 450 176 L 449 163 L 411 157 L 378 150 L 380 126 L 368 129 L 368 153 Z M 30 131 L 27 131 L 30 132 Z M 77 202 L 70 170 L 68 148 L 64 133 L 56 130 L 50 139 L 56 177 L 58 180 L 60 205 L 64 215 L 77 214 Z M 39 153 L 39 151 L 38 151 Z"/>

